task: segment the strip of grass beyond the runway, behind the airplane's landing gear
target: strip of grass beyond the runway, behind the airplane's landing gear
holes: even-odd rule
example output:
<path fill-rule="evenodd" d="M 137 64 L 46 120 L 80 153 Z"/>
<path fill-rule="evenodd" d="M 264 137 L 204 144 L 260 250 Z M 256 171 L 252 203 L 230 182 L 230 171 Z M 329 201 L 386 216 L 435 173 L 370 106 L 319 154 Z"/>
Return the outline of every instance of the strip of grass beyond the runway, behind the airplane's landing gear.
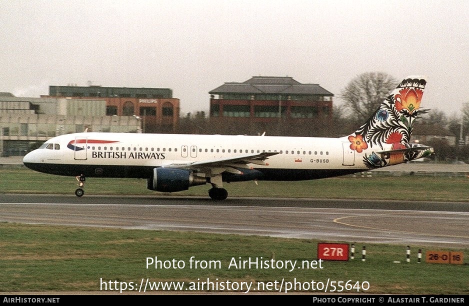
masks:
<path fill-rule="evenodd" d="M 469 201 L 466 176 L 341 176 L 308 181 L 252 181 L 224 183 L 228 196 L 311 197 Z M 35 172 L 26 168 L 0 170 L 0 193 L 73 194 L 76 179 Z M 86 194 L 143 194 L 207 196 L 209 185 L 161 193 L 146 189 L 145 179 L 87 178 Z"/>

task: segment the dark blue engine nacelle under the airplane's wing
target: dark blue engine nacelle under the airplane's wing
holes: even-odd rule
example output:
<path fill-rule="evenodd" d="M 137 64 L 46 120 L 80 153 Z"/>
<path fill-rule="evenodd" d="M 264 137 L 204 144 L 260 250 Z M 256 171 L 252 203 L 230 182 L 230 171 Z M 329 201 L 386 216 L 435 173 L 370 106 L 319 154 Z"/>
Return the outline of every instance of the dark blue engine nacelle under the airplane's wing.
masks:
<path fill-rule="evenodd" d="M 206 177 L 194 172 L 175 168 L 154 168 L 153 176 L 146 180 L 146 188 L 162 192 L 176 192 L 189 189 L 190 186 L 203 185 Z"/>

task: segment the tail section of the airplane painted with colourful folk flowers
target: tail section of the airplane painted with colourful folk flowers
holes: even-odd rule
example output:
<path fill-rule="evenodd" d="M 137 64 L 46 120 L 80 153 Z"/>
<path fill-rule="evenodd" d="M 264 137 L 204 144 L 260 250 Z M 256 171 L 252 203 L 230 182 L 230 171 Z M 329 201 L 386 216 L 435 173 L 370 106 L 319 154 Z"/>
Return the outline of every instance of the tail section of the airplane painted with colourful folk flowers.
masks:
<path fill-rule="evenodd" d="M 431 147 L 409 142 L 425 85 L 424 76 L 407 76 L 376 112 L 347 137 L 350 149 L 364 152 L 366 167 L 397 164 L 433 152 Z"/>

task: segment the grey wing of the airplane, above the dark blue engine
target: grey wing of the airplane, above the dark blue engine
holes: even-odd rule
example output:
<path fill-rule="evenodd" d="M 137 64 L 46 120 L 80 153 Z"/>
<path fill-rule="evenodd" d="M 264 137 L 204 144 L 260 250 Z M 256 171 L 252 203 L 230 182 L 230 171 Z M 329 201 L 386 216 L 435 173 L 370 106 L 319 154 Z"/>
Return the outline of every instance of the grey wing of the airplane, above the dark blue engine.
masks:
<path fill-rule="evenodd" d="M 268 165 L 265 162 L 269 156 L 279 154 L 279 152 L 262 152 L 257 154 L 244 154 L 233 157 L 213 158 L 185 163 L 170 163 L 163 165 L 165 168 L 191 169 L 198 172 L 217 174 L 224 171 L 240 174 L 241 171 L 235 168 L 246 168 L 249 163 Z"/>

